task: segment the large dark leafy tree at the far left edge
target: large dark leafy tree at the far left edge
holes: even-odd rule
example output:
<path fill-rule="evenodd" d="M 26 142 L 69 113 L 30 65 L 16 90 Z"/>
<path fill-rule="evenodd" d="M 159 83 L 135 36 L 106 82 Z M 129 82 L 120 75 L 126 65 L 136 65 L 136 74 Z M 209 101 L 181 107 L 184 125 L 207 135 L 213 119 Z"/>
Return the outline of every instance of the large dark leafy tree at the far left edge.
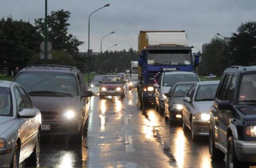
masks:
<path fill-rule="evenodd" d="M 35 53 L 40 50 L 42 36 L 36 28 L 25 21 L 15 21 L 12 17 L 0 20 L 0 59 L 6 61 L 10 70 L 15 66 L 25 66 Z"/>

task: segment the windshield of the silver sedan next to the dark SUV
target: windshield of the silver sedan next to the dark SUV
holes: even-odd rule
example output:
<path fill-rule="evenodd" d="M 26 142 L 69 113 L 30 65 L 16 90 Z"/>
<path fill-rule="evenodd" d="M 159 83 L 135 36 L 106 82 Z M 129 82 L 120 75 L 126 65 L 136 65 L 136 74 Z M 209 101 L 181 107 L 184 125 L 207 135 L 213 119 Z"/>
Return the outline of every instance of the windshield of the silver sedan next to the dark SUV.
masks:
<path fill-rule="evenodd" d="M 218 88 L 218 84 L 200 85 L 196 92 L 195 101 L 214 100 L 217 88 Z"/>

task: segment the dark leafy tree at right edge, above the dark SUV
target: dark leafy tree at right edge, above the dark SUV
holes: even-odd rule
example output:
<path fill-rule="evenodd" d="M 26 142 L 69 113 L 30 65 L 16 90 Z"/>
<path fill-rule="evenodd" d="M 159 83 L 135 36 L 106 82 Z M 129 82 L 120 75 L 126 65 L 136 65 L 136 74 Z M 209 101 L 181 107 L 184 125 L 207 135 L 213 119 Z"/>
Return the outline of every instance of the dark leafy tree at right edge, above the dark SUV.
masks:
<path fill-rule="evenodd" d="M 241 23 L 232 33 L 230 39 L 230 54 L 232 64 L 255 65 L 256 64 L 256 21 Z"/>

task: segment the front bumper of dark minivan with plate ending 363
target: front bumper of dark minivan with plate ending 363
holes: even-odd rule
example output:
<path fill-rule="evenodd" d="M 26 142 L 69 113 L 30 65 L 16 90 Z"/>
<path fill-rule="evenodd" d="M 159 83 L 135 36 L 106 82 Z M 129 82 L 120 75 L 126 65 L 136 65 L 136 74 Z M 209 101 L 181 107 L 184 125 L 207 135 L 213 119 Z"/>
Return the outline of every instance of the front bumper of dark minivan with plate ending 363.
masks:
<path fill-rule="evenodd" d="M 50 130 L 42 130 L 42 135 L 76 135 L 80 131 L 81 121 L 44 122 Z"/>

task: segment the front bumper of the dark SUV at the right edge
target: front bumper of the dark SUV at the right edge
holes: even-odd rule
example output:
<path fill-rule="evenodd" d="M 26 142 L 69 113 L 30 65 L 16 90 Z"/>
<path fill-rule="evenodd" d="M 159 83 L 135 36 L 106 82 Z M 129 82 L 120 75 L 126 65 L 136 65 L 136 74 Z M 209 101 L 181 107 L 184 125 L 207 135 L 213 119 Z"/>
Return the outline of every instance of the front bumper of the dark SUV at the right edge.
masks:
<path fill-rule="evenodd" d="M 256 163 L 256 141 L 234 139 L 234 145 L 238 160 Z"/>

